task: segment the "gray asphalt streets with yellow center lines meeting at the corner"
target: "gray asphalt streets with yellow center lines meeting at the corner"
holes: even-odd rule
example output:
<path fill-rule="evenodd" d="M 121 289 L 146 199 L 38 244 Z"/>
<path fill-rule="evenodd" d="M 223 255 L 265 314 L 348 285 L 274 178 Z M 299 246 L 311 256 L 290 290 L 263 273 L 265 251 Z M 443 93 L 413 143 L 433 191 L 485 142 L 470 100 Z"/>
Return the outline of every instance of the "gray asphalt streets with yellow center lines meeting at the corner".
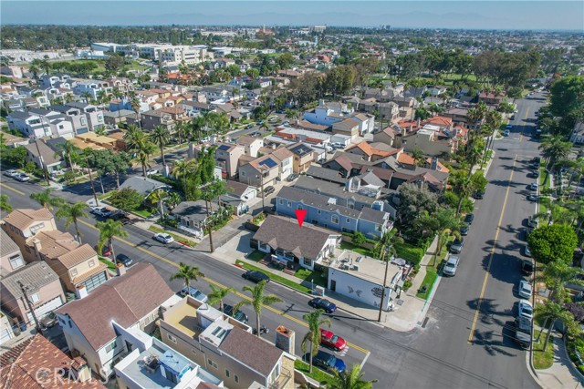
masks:
<path fill-rule="evenodd" d="M 537 143 L 527 134 L 541 106 L 540 100 L 519 100 L 515 127 L 509 137 L 495 141 L 495 160 L 489 170 L 484 200 L 478 200 L 475 219 L 462 251 L 462 261 L 454 278 L 444 279 L 428 312 L 427 325 L 410 333 L 397 333 L 353 316 L 349 312 L 331 315 L 331 330 L 349 342 L 349 351 L 342 355 L 348 363 L 364 363 L 367 379 L 377 379 L 380 388 L 475 388 L 537 387 L 527 372 L 526 354 L 511 339 L 508 323 L 513 321 L 517 298 L 516 283 L 520 280 L 520 248 L 525 242 L 519 232 L 535 205 L 526 200 L 526 163 L 537 155 Z M 252 131 L 252 130 L 250 130 Z M 111 184 L 111 183 L 110 183 Z M 106 183 L 106 185 L 110 185 Z M 98 188 L 96 186 L 96 188 Z M 18 183 L 2 176 L 0 189 L 10 197 L 14 208 L 36 208 L 29 194 L 42 188 Z M 87 186 L 89 189 L 89 185 Z M 89 200 L 91 192 L 76 190 L 56 192 L 68 200 Z M 95 245 L 98 231 L 92 216 L 80 225 L 83 241 Z M 57 221 L 60 230 L 63 223 Z M 73 227 L 68 229 L 73 233 Z M 210 292 L 209 282 L 229 285 L 238 291 L 226 302 L 241 298 L 241 289 L 249 284 L 241 278 L 242 270 L 217 261 L 206 253 L 185 248 L 177 243 L 163 245 L 152 240 L 150 231 L 128 226 L 129 237 L 114 243 L 116 253 L 123 252 L 134 261 L 151 262 L 163 279 L 169 280 L 178 263 L 199 265 L 204 280 L 194 282 L 203 292 Z M 173 291 L 182 282 L 169 282 Z M 308 312 L 308 296 L 270 282 L 267 292 L 284 302 L 264 309 L 262 322 L 271 330 L 284 324 L 296 332 L 296 353 L 301 354 L 300 341 L 307 331 L 302 315 Z M 244 311 L 254 323 L 252 310 Z M 470 340 L 470 342 L 469 342 Z"/>

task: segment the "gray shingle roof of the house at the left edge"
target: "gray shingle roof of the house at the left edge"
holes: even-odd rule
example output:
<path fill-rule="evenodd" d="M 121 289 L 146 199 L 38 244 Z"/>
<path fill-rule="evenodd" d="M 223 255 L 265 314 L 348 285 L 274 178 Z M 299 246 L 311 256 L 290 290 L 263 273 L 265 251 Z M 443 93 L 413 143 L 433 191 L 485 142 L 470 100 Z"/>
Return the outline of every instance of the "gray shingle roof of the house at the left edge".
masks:
<path fill-rule="evenodd" d="M 16 299 L 22 296 L 22 290 L 18 285 L 19 281 L 29 288 L 28 292 L 35 293 L 43 286 L 58 281 L 58 276 L 45 261 L 32 262 L 11 272 L 2 279 L 2 285 Z"/>

